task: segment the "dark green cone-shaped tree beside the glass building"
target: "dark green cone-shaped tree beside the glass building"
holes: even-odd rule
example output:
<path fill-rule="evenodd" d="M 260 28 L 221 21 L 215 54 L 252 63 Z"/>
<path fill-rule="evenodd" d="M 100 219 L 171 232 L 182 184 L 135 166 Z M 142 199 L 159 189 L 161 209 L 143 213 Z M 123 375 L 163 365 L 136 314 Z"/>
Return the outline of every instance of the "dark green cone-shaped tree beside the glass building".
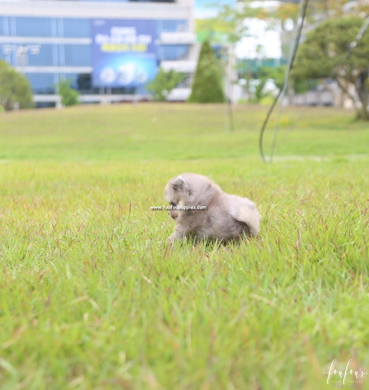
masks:
<path fill-rule="evenodd" d="M 192 103 L 221 103 L 224 101 L 222 72 L 209 41 L 202 43 L 195 78 L 192 83 Z"/>

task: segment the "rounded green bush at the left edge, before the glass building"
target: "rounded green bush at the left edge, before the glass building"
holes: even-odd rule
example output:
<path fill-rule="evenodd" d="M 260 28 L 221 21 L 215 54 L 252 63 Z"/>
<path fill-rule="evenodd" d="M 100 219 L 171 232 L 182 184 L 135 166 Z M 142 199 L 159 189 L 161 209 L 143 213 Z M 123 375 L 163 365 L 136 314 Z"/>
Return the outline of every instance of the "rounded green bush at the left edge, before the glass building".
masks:
<path fill-rule="evenodd" d="M 32 90 L 27 78 L 0 60 L 0 105 L 6 111 L 33 106 Z"/>

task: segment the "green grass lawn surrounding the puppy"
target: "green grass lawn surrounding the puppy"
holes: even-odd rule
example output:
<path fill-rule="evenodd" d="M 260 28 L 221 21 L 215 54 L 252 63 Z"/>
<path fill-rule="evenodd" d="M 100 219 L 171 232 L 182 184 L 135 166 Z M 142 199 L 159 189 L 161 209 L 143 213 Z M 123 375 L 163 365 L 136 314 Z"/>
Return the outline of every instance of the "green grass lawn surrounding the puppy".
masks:
<path fill-rule="evenodd" d="M 0 389 L 369 389 L 369 124 L 285 109 L 266 165 L 265 111 L 0 114 Z M 150 206 L 185 171 L 254 200 L 259 236 L 168 247 Z"/>

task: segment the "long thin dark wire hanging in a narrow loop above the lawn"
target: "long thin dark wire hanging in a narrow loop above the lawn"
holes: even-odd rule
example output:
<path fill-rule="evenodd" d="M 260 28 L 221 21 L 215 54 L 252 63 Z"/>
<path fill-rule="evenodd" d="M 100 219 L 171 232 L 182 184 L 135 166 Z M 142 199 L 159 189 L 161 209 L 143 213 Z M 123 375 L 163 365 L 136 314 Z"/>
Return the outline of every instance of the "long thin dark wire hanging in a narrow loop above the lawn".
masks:
<path fill-rule="evenodd" d="M 277 140 L 277 132 L 278 132 L 278 128 L 279 128 L 280 115 L 282 113 L 283 100 L 284 100 L 284 96 L 286 94 L 289 72 L 291 71 L 294 58 L 296 57 L 296 51 L 297 51 L 298 43 L 299 43 L 300 38 L 301 38 L 301 32 L 302 32 L 303 22 L 304 22 L 305 16 L 306 16 L 306 9 L 307 9 L 308 2 L 309 2 L 309 0 L 300 0 L 300 7 L 299 7 L 299 15 L 300 16 L 297 19 L 297 21 L 299 23 L 296 27 L 296 37 L 295 37 L 295 41 L 294 41 L 294 45 L 293 45 L 293 50 L 291 51 L 291 55 L 290 55 L 289 61 L 287 63 L 286 73 L 284 75 L 284 80 L 283 80 L 283 83 L 279 89 L 277 96 L 274 98 L 273 104 L 270 106 L 268 113 L 266 114 L 266 118 L 264 119 L 263 126 L 260 130 L 259 149 L 260 149 L 261 158 L 263 159 L 264 163 L 267 162 L 265 155 L 264 155 L 264 151 L 263 151 L 263 135 L 264 135 L 265 127 L 269 121 L 269 117 L 270 117 L 271 113 L 273 112 L 275 105 L 277 104 L 278 99 L 282 95 L 282 98 L 280 99 L 278 119 L 277 119 L 277 123 L 276 123 L 275 128 L 274 128 L 273 142 L 272 142 L 271 152 L 270 152 L 270 162 L 271 162 L 273 152 L 274 152 L 275 142 Z"/>

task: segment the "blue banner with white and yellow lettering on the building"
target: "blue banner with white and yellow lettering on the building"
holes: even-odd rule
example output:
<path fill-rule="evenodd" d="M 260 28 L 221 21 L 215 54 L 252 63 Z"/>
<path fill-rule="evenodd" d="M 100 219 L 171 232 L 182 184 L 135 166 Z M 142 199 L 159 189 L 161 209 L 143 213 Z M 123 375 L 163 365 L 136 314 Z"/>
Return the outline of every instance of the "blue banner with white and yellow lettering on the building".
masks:
<path fill-rule="evenodd" d="M 92 20 L 92 83 L 139 87 L 156 74 L 155 20 Z"/>

